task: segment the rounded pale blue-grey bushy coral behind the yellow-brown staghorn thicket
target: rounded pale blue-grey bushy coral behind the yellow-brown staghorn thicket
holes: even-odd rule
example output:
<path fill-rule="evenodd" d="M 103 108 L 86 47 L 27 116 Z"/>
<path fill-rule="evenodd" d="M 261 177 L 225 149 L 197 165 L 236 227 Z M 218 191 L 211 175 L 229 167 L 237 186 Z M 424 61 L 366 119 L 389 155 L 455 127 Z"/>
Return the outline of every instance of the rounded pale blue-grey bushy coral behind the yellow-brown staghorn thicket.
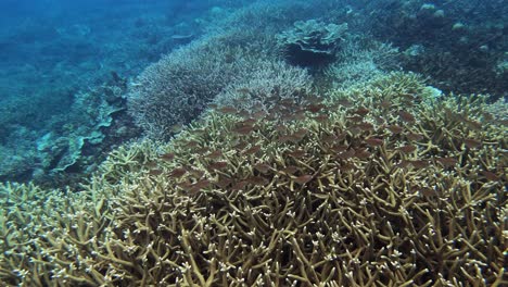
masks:
<path fill-rule="evenodd" d="M 257 59 L 223 45 L 221 38 L 209 36 L 173 51 L 131 85 L 129 112 L 149 137 L 168 139 L 175 126 L 196 118 L 226 86 L 256 66 Z"/>

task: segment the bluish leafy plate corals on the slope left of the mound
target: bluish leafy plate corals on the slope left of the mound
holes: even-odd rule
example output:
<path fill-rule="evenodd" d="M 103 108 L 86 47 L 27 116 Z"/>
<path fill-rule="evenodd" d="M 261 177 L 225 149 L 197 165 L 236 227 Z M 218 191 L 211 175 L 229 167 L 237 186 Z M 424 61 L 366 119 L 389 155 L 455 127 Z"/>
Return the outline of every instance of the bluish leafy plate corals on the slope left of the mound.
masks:
<path fill-rule="evenodd" d="M 125 139 L 132 129 L 109 133 L 115 122 L 126 117 L 126 102 L 122 99 L 125 91 L 126 80 L 116 75 L 101 86 L 74 95 L 68 113 L 55 116 L 46 134 L 20 124 L 10 135 L 18 140 L 7 138 L 0 148 L 5 158 L 0 164 L 0 179 L 30 179 L 60 187 L 90 174 L 94 163 L 111 151 L 111 138 Z"/>

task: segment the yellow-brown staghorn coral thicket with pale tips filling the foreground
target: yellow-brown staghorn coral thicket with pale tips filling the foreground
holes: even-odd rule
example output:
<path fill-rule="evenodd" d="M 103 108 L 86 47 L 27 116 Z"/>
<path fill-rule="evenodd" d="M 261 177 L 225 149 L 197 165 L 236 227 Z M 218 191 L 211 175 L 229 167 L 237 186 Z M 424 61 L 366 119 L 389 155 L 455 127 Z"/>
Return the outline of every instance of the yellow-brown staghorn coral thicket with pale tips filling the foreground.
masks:
<path fill-rule="evenodd" d="M 24 211 L 47 227 L 23 234 L 20 212 L 3 211 L 0 279 L 500 286 L 507 128 L 482 98 L 423 90 L 393 73 L 325 104 L 287 103 L 299 118 L 221 109 L 165 147 L 120 150 L 104 165 L 127 162 L 118 180 L 98 176 L 76 199 L 50 198 L 53 212 Z"/>

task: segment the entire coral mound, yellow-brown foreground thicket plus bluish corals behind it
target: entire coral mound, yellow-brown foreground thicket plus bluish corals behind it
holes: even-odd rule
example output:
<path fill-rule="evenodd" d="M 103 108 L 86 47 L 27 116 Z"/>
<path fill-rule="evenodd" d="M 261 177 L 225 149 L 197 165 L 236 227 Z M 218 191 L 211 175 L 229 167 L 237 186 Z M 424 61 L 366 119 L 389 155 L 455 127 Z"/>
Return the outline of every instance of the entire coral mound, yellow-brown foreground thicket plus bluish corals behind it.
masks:
<path fill-rule="evenodd" d="M 301 7 L 147 67 L 123 96 L 143 137 L 79 185 L 0 184 L 0 286 L 507 286 L 506 102 Z"/>

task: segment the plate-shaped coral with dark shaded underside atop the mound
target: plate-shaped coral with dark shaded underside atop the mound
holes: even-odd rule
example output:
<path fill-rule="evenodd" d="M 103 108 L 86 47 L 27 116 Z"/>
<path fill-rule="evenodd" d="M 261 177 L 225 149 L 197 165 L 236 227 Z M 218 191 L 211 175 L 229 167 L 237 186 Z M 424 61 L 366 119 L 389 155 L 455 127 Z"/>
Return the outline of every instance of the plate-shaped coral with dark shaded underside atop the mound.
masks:
<path fill-rule="evenodd" d="M 336 25 L 316 20 L 297 21 L 294 28 L 277 35 L 277 39 L 291 63 L 319 66 L 334 59 L 346 30 L 347 23 Z"/>

